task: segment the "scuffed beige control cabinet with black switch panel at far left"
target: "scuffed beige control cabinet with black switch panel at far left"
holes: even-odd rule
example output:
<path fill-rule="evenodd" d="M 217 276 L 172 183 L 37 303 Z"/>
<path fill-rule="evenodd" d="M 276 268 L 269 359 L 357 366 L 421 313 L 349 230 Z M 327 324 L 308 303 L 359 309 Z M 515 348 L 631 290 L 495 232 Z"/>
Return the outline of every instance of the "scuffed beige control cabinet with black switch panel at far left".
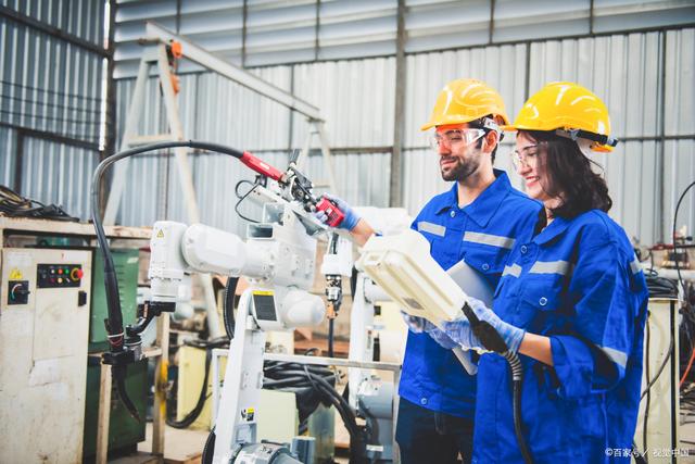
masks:
<path fill-rule="evenodd" d="M 0 462 L 81 462 L 92 252 L 1 252 Z"/>

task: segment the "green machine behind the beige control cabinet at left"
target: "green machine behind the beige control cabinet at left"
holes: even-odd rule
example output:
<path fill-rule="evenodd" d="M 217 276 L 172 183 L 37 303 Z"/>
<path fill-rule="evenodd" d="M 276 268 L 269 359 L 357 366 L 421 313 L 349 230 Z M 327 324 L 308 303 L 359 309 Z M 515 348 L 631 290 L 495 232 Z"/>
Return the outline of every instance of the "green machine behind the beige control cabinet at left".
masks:
<path fill-rule="evenodd" d="M 137 318 L 137 290 L 139 251 L 130 249 L 113 250 L 113 260 L 118 276 L 118 291 L 123 322 L 132 324 Z M 93 254 L 91 311 L 89 319 L 89 352 L 100 353 L 109 349 L 104 319 L 106 314 L 106 291 L 104 288 L 103 255 L 100 250 Z M 93 462 L 97 452 L 97 422 L 99 414 L 99 384 L 101 377 L 100 356 L 90 355 L 87 364 L 87 392 L 85 401 L 85 435 L 83 455 L 85 462 Z M 128 366 L 126 389 L 141 417 L 146 416 L 148 396 L 148 362 L 143 360 Z M 109 451 L 131 451 L 144 440 L 144 423 L 138 423 L 118 401 L 118 393 L 111 393 L 109 419 Z"/>

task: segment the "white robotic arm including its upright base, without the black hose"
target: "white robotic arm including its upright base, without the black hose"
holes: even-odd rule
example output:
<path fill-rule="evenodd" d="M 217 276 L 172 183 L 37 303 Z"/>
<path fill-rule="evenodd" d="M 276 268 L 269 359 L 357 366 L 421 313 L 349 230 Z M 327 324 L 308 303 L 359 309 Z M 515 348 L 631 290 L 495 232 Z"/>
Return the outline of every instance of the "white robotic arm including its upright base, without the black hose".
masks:
<path fill-rule="evenodd" d="M 245 462 L 244 453 L 263 451 L 252 443 L 263 387 L 265 331 L 314 326 L 326 315 L 321 298 L 308 291 L 314 283 L 316 239 L 307 233 L 305 221 L 292 204 L 278 201 L 264 205 L 263 222 L 249 225 L 245 241 L 202 224 L 154 224 L 150 304 L 175 304 L 179 287 L 192 272 L 249 280 L 235 333 L 229 334 L 229 368 L 215 425 L 215 463 Z"/>

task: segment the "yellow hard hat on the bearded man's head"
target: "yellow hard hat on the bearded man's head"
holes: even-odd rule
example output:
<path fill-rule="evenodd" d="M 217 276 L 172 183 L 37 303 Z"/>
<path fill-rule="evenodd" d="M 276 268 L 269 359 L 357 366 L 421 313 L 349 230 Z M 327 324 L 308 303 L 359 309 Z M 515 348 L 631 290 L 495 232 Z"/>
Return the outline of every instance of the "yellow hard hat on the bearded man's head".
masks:
<path fill-rule="evenodd" d="M 490 114 L 500 116 L 504 124 L 509 124 L 500 93 L 481 80 L 456 79 L 446 84 L 439 92 L 430 121 L 420 129 L 470 123 Z"/>

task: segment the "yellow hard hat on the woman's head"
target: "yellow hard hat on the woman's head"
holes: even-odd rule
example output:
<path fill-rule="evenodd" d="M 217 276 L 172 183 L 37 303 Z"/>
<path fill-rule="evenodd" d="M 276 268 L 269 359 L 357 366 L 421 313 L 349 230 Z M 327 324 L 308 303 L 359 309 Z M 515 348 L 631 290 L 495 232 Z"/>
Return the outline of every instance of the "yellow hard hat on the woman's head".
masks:
<path fill-rule="evenodd" d="M 618 143 L 610 137 L 610 118 L 604 102 L 573 83 L 551 83 L 521 108 L 514 124 L 503 130 L 555 130 L 572 140 L 591 141 L 591 150 L 608 152 Z"/>

